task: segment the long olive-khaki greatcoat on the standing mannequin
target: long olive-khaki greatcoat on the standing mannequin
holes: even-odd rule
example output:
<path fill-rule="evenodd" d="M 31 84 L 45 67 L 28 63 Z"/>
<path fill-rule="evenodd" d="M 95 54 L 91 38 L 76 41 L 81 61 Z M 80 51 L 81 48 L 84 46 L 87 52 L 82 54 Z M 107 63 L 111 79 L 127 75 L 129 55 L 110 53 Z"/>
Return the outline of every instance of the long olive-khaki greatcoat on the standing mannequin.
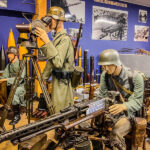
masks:
<path fill-rule="evenodd" d="M 43 72 L 44 80 L 52 75 L 52 102 L 55 113 L 73 104 L 71 73 L 74 65 L 74 49 L 70 37 L 65 30 L 56 33 L 53 42 L 41 47 L 47 57 Z M 60 74 L 60 78 L 57 76 Z M 65 74 L 68 74 L 66 79 Z M 70 75 L 69 75 L 70 74 Z"/>

